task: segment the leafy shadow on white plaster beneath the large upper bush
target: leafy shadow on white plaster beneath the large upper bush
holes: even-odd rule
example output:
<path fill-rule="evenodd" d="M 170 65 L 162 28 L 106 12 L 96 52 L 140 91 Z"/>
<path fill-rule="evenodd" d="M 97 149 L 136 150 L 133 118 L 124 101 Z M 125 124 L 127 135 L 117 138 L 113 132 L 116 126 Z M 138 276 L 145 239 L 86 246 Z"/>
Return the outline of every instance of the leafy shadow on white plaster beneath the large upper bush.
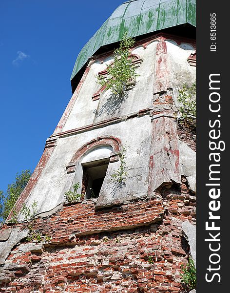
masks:
<path fill-rule="evenodd" d="M 104 114 L 107 114 L 107 116 L 115 114 L 115 112 L 120 109 L 122 102 L 127 100 L 128 95 L 128 91 L 125 91 L 123 95 L 111 94 L 106 98 L 106 102 L 103 105 L 99 104 L 99 110 L 95 111 L 96 118 L 101 117 Z"/>

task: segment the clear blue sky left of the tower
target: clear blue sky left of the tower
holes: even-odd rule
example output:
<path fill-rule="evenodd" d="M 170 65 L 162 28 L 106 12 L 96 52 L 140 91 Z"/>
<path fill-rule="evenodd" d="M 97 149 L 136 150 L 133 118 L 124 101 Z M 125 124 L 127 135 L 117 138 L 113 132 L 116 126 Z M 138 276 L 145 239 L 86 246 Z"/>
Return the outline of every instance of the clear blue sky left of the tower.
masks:
<path fill-rule="evenodd" d="M 0 189 L 36 167 L 77 54 L 124 0 L 0 0 Z"/>

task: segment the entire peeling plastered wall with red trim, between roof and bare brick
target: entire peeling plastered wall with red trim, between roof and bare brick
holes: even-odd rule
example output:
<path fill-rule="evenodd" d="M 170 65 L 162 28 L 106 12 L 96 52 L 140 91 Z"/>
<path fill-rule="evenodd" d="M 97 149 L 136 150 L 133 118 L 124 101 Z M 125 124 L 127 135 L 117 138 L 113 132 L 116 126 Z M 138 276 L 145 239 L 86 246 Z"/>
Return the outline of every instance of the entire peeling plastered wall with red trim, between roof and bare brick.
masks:
<path fill-rule="evenodd" d="M 44 158 L 47 162 L 38 164 L 39 170 L 35 170 L 33 176 L 39 171 L 39 178 L 32 176 L 34 187 L 25 190 L 17 203 L 18 208 L 23 202 L 31 206 L 39 198 L 38 213 L 47 212 L 65 201 L 65 191 L 74 183 L 79 182 L 80 190 L 82 174 L 79 171 L 78 175 L 74 171 L 67 172 L 66 168 L 77 150 L 98 137 L 116 137 L 121 142 L 120 148 L 125 144 L 128 146 L 125 184 L 117 193 L 110 179 L 120 162 L 109 164 L 98 198 L 101 207 L 146 196 L 164 184 L 180 184 L 181 175 L 194 177 L 193 173 L 185 174 L 184 168 L 179 170 L 184 160 L 195 160 L 195 152 L 190 147 L 188 152 L 186 146 L 179 142 L 176 93 L 182 80 L 194 81 L 195 69 L 187 61 L 191 50 L 182 49 L 167 40 L 166 37 L 152 38 L 132 50 L 132 54 L 142 60 L 136 69 L 139 77 L 136 85 L 121 100 L 110 96 L 110 91 L 102 91 L 97 100 L 92 99 L 100 88 L 96 74 L 113 62 L 113 56 L 102 56 L 89 64 L 87 74 L 83 76 L 54 134 L 47 140 L 45 152 L 48 154 Z M 173 62 L 179 65 L 174 66 Z M 181 80 L 177 71 L 183 75 Z M 193 177 L 191 188 L 194 190 Z"/>

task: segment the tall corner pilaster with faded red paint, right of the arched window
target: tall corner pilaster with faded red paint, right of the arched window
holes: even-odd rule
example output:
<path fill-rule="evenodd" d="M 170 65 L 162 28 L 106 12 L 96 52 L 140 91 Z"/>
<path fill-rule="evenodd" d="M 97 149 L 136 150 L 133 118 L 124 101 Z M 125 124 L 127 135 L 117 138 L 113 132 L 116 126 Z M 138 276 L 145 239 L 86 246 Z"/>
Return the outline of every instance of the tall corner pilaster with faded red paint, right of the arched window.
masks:
<path fill-rule="evenodd" d="M 179 146 L 173 90 L 170 88 L 167 44 L 160 37 L 156 45 L 156 68 L 153 88 L 152 141 L 148 195 L 161 186 L 181 184 Z"/>

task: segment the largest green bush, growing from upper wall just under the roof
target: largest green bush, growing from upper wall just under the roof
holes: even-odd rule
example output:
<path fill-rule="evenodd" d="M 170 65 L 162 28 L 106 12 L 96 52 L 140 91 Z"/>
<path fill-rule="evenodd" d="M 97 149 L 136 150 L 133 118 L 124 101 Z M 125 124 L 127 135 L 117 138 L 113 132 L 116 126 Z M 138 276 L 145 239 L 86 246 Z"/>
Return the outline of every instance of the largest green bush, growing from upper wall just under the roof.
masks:
<path fill-rule="evenodd" d="M 122 96 L 127 85 L 134 82 L 138 74 L 135 73 L 135 68 L 132 64 L 132 57 L 130 57 L 129 50 L 134 46 L 135 40 L 129 38 L 127 33 L 124 34 L 120 42 L 119 48 L 115 49 L 114 63 L 107 68 L 108 78 L 100 79 L 98 83 L 105 89 L 111 89 L 115 95 Z"/>

